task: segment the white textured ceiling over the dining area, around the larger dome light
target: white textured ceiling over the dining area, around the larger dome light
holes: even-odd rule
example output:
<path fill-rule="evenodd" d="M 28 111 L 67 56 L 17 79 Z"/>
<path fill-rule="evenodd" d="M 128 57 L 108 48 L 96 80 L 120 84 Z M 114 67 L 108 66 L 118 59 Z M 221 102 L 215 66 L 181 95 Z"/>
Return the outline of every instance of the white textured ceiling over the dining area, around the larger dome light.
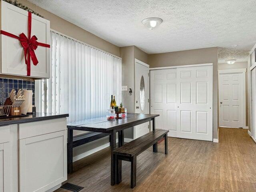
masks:
<path fill-rule="evenodd" d="M 255 0 L 29 0 L 117 46 L 148 54 L 207 47 L 250 50 Z M 155 30 L 141 21 L 160 17 Z"/>

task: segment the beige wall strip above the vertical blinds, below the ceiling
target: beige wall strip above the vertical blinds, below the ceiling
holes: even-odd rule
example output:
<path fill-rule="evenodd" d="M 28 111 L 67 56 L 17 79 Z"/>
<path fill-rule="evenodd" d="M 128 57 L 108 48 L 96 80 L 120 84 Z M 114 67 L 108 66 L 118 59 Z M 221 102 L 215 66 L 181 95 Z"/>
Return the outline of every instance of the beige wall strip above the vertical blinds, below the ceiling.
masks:
<path fill-rule="evenodd" d="M 85 42 L 87 44 L 90 44 L 96 48 L 100 48 L 106 52 L 110 52 L 116 56 L 120 56 L 120 50 L 118 46 L 115 46 L 110 42 L 103 40 L 102 38 L 52 14 L 51 12 L 48 12 L 36 6 L 31 2 L 28 2 L 27 0 L 18 0 L 18 2 L 31 8 L 35 12 L 38 12 L 39 14 L 44 16 L 44 18 L 49 20 L 51 29 L 61 32 L 67 36 L 70 36 L 72 38 Z"/>

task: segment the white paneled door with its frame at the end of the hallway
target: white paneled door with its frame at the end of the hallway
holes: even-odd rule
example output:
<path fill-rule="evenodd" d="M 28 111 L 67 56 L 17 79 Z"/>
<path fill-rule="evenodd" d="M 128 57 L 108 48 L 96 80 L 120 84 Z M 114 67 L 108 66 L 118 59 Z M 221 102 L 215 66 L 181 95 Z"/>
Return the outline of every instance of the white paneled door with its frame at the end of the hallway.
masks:
<path fill-rule="evenodd" d="M 244 123 L 245 69 L 219 70 L 219 126 L 242 128 Z"/>

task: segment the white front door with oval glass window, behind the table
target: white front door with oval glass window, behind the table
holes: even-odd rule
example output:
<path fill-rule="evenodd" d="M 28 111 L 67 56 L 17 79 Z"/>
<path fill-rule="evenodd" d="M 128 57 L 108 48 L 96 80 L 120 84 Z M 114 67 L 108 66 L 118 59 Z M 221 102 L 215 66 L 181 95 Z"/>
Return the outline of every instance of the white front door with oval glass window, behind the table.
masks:
<path fill-rule="evenodd" d="M 149 66 L 135 61 L 135 113 L 149 114 Z M 149 122 L 134 126 L 134 138 L 149 132 Z"/>

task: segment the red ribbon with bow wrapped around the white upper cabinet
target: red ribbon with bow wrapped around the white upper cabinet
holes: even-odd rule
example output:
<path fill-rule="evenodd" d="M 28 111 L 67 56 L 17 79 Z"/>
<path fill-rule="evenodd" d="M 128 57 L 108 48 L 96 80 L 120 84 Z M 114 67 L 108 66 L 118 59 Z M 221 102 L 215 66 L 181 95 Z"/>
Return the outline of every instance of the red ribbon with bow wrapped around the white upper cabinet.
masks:
<path fill-rule="evenodd" d="M 30 58 L 35 66 L 38 64 L 38 60 L 36 58 L 34 50 L 36 50 L 38 46 L 50 48 L 49 44 L 37 42 L 37 38 L 35 35 L 31 37 L 31 22 L 32 14 L 31 12 L 28 12 L 28 37 L 24 33 L 21 33 L 19 36 L 16 36 L 3 30 L 0 31 L 0 34 L 16 38 L 20 41 L 20 44 L 24 50 L 25 63 L 27 65 L 27 76 L 30 76 Z"/>

